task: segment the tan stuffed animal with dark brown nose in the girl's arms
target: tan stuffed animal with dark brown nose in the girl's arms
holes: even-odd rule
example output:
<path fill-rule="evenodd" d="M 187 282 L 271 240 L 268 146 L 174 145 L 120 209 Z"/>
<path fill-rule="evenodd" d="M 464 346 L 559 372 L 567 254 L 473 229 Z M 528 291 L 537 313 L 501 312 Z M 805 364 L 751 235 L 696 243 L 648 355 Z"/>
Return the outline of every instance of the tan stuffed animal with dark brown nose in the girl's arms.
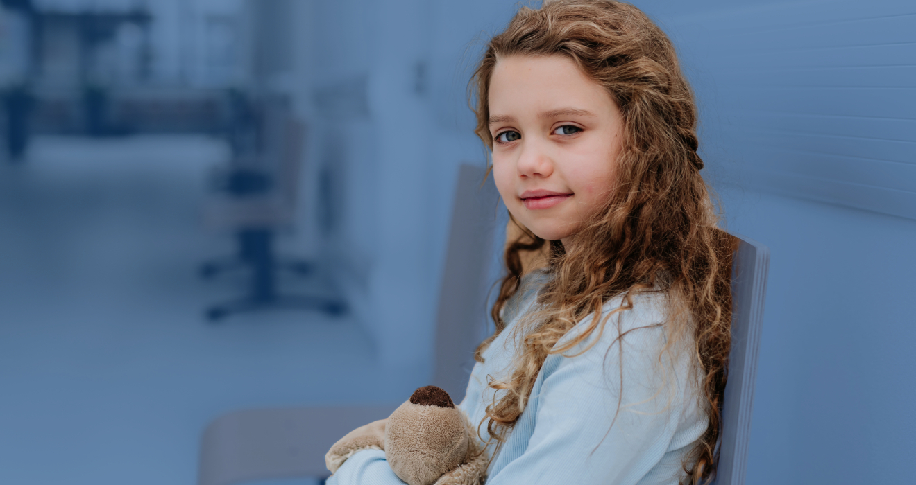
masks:
<path fill-rule="evenodd" d="M 388 465 L 409 485 L 481 485 L 489 457 L 473 426 L 448 393 L 420 387 L 387 419 L 358 427 L 324 456 L 336 473 L 361 449 L 385 451 Z"/>

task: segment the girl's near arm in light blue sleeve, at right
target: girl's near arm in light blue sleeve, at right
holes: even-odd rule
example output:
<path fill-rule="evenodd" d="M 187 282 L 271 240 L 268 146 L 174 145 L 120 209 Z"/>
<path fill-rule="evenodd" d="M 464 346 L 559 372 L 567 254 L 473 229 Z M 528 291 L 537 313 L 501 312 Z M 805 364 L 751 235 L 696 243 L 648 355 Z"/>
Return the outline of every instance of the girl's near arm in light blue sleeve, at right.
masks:
<path fill-rule="evenodd" d="M 635 313 L 624 313 L 624 329 L 651 324 L 645 314 L 639 318 L 643 321 L 634 322 Z M 587 341 L 593 340 L 596 333 Z M 666 463 L 679 461 L 671 459 L 676 454 L 665 457 L 674 448 L 672 443 L 686 438 L 684 445 L 689 444 L 705 429 L 703 419 L 698 419 L 693 420 L 695 426 L 686 433 L 679 431 L 683 427 L 682 410 L 687 406 L 683 394 L 677 391 L 678 381 L 684 381 L 682 369 L 676 375 L 670 366 L 667 375 L 660 369 L 664 345 L 660 327 L 627 333 L 622 356 L 621 346 L 611 344 L 617 335 L 615 316 L 606 322 L 604 334 L 590 350 L 574 357 L 548 357 L 541 370 L 540 389 L 536 384 L 532 393 L 531 403 L 535 404 L 535 397 L 537 403 L 536 410 L 531 410 L 535 411 L 535 419 L 528 445 L 521 445 L 524 451 L 514 459 L 507 458 L 511 461 L 505 466 L 498 464 L 487 485 L 630 485 L 638 483 L 650 470 L 653 475 L 679 472 L 680 463 L 653 468 L 662 458 Z M 564 353 L 578 353 L 587 341 Z M 679 362 L 686 365 L 689 360 Z M 619 412 L 618 400 L 622 403 Z"/>

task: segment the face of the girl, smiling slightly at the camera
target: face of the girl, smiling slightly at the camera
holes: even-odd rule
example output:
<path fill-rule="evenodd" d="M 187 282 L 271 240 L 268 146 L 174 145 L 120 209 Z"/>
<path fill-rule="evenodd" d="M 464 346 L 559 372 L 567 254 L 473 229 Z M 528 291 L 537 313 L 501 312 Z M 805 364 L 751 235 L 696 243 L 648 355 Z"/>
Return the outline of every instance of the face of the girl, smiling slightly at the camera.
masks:
<path fill-rule="evenodd" d="M 559 55 L 499 59 L 488 102 L 499 195 L 531 232 L 568 248 L 614 183 L 616 102 Z"/>

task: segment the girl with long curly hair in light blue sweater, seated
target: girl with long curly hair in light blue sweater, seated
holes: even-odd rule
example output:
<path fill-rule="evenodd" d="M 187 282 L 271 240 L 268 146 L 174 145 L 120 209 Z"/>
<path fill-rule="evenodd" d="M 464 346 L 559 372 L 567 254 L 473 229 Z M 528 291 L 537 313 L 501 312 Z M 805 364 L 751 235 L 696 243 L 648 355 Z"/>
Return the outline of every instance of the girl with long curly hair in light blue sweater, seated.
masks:
<path fill-rule="evenodd" d="M 545 2 L 472 86 L 518 224 L 459 404 L 493 445 L 487 485 L 712 479 L 730 251 L 671 41 L 632 5 Z M 384 458 L 359 451 L 328 483 L 402 483 Z"/>

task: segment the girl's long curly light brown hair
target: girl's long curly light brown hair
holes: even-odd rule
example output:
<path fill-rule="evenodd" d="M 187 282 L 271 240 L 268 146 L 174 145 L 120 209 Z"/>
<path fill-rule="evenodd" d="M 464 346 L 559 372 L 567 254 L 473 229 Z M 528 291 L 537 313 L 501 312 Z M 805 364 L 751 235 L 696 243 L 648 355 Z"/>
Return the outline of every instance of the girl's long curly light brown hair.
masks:
<path fill-rule="evenodd" d="M 545 242 L 521 226 L 518 238 L 507 243 L 507 275 L 491 311 L 496 333 L 478 346 L 477 361 L 483 361 L 482 351 L 506 328 L 500 310 L 518 291 L 522 257 L 548 253 L 552 277 L 538 296 L 542 309 L 524 318 L 527 333 L 509 377 L 489 383 L 506 393 L 487 406 L 487 430 L 497 441 L 505 440 L 547 356 L 572 349 L 603 326 L 608 300 L 623 296 L 613 315 L 632 307 L 632 296 L 661 291 L 671 309 L 665 328 L 675 339 L 691 342 L 700 405 L 708 416 L 703 436 L 683 463 L 686 480 L 713 480 L 731 343 L 732 242 L 718 228 L 712 192 L 699 173 L 703 160 L 697 155 L 691 89 L 671 40 L 633 5 L 554 0 L 540 9 L 521 7 L 505 31 L 490 39 L 469 84 L 474 132 L 490 150 L 488 93 L 496 63 L 508 56 L 545 55 L 572 59 L 611 94 L 622 115 L 623 138 L 615 187 L 575 234 L 587 243 L 567 252 L 562 242 Z M 554 348 L 589 315 L 594 318 L 587 329 Z"/>

